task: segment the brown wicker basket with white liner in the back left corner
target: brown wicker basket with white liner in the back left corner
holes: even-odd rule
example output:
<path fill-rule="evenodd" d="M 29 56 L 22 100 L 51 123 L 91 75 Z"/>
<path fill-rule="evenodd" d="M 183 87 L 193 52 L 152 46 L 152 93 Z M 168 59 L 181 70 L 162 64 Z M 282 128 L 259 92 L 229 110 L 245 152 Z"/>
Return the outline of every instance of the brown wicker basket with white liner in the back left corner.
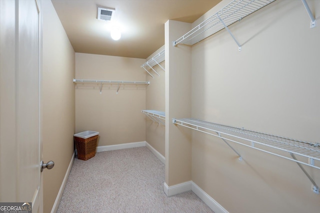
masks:
<path fill-rule="evenodd" d="M 73 135 L 78 159 L 87 160 L 95 155 L 99 132 L 82 131 Z"/>

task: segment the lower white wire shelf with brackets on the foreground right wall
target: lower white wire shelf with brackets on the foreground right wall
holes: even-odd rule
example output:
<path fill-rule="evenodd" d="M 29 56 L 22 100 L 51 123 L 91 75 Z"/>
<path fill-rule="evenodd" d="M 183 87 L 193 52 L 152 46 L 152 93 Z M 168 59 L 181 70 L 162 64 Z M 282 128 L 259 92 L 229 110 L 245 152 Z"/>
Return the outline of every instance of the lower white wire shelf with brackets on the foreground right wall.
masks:
<path fill-rule="evenodd" d="M 295 161 L 312 182 L 313 192 L 319 193 L 319 187 L 302 167 L 303 164 L 320 169 L 320 143 L 318 142 L 301 141 L 194 118 L 172 118 L 172 122 L 221 138 L 239 156 L 240 160 L 241 155 L 227 141 Z"/>

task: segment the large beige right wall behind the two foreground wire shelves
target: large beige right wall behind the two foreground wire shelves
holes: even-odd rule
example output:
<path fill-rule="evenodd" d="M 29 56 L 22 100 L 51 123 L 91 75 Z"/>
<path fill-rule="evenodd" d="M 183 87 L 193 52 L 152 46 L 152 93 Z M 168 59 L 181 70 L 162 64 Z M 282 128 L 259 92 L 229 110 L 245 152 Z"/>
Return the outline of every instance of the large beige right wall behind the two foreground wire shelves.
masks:
<path fill-rule="evenodd" d="M 319 19 L 320 1 L 307 2 Z M 278 0 L 229 27 L 240 52 L 224 29 L 193 45 L 192 117 L 319 142 L 320 26 L 309 22 L 301 1 Z M 320 196 L 295 162 L 233 147 L 241 161 L 192 131 L 192 180 L 226 210 L 318 212 Z M 320 171 L 305 169 L 320 185 Z"/>

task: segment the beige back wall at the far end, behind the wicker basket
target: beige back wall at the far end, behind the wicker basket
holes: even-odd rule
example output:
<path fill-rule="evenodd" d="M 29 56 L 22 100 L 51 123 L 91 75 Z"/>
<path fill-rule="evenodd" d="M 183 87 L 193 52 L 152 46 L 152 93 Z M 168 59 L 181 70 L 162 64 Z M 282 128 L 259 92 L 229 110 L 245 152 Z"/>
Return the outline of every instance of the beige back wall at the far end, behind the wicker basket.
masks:
<path fill-rule="evenodd" d="M 79 79 L 145 81 L 144 59 L 75 53 Z M 75 131 L 99 132 L 98 146 L 145 141 L 144 85 L 75 85 Z"/>

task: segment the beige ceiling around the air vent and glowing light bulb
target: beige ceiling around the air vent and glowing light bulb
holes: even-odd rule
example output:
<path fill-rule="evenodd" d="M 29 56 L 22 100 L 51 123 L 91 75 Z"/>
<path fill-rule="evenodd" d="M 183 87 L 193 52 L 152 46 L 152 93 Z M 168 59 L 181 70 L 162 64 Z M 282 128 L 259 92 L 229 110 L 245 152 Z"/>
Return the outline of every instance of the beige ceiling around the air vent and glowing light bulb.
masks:
<path fill-rule="evenodd" d="M 164 44 L 168 19 L 192 23 L 221 0 L 51 0 L 75 52 L 146 58 Z M 97 7 L 115 8 L 121 38 Z"/>

